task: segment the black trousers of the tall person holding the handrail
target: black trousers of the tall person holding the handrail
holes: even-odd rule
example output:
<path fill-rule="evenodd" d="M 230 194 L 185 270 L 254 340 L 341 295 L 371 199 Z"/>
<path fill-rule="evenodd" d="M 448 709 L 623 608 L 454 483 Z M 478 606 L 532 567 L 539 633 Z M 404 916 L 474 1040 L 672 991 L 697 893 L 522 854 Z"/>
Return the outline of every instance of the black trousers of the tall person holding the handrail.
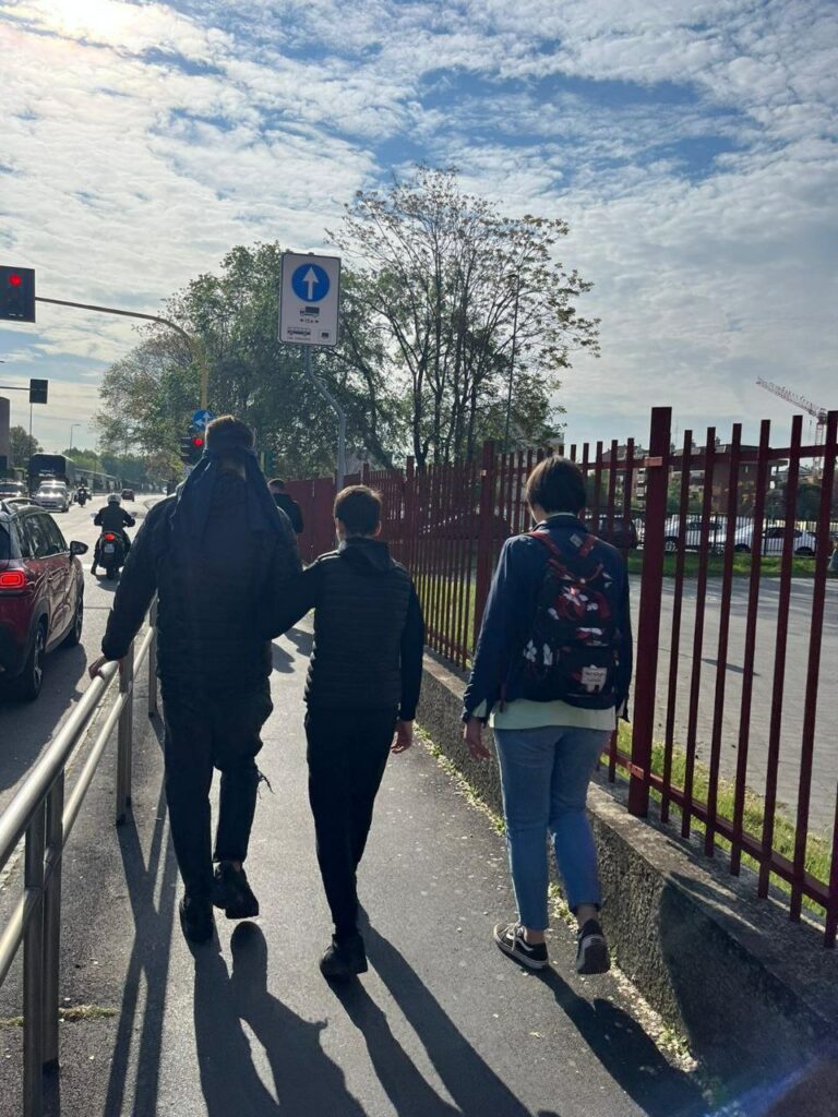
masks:
<path fill-rule="evenodd" d="M 234 695 L 164 696 L 165 798 L 187 892 L 209 899 L 212 860 L 244 861 L 250 838 L 261 748 L 259 732 L 273 710 L 270 689 Z M 216 850 L 210 852 L 212 770 L 221 773 Z"/>

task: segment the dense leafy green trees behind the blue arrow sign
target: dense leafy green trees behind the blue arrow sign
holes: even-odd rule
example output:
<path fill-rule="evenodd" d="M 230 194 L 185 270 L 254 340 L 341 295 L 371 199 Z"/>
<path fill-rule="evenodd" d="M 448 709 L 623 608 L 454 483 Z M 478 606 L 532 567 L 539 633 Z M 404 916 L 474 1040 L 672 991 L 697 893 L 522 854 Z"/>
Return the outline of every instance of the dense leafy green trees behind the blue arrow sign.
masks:
<path fill-rule="evenodd" d="M 301 351 L 277 340 L 282 248 L 237 247 L 220 275 L 202 275 L 175 295 L 166 316 L 201 345 L 209 364 L 210 405 L 232 412 L 273 450 L 277 471 L 306 476 L 334 468 L 336 423 L 305 378 Z M 315 372 L 347 414 L 347 441 L 387 465 L 402 438 L 401 405 L 385 376 L 384 352 L 344 270 L 341 344 L 313 355 Z M 183 340 L 165 327 L 105 373 L 97 426 L 106 446 L 173 455 L 199 395 L 199 371 Z"/>

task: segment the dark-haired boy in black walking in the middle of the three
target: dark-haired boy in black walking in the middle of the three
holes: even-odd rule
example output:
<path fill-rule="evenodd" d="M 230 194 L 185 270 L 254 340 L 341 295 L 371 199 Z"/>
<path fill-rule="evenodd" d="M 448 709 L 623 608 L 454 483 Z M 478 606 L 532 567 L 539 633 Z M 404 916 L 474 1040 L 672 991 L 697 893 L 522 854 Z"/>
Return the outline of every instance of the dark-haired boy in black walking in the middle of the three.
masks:
<path fill-rule="evenodd" d="M 355 872 L 388 755 L 413 741 L 425 626 L 410 575 L 377 540 L 379 495 L 364 485 L 345 488 L 334 517 L 340 546 L 299 576 L 273 630 L 285 632 L 315 611 L 305 687 L 308 798 L 334 920 L 321 971 L 342 978 L 366 970 Z"/>

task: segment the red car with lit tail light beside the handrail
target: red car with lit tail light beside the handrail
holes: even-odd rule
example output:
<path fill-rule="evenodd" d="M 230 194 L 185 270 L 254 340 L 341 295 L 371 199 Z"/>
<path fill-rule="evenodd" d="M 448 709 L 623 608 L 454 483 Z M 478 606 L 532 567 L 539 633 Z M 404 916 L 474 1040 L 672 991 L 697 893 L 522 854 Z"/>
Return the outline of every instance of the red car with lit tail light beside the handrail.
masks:
<path fill-rule="evenodd" d="M 0 682 L 18 698 L 40 694 L 48 651 L 82 639 L 86 551 L 42 509 L 0 500 Z"/>

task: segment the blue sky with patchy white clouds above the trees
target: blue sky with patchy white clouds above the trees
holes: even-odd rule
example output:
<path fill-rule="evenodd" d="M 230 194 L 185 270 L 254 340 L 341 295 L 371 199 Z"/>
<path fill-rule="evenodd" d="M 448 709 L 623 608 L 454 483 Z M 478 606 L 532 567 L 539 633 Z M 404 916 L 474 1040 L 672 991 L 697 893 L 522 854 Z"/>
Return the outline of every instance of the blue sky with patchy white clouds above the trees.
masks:
<path fill-rule="evenodd" d="M 653 404 L 787 431 L 756 376 L 838 407 L 835 0 L 0 0 L 0 261 L 40 295 L 153 313 L 232 245 L 327 248 L 353 191 L 456 163 L 571 225 L 602 319 L 572 440 L 644 439 Z M 0 382 L 49 378 L 36 436 L 89 443 L 134 337 L 41 306 L 0 324 Z"/>

